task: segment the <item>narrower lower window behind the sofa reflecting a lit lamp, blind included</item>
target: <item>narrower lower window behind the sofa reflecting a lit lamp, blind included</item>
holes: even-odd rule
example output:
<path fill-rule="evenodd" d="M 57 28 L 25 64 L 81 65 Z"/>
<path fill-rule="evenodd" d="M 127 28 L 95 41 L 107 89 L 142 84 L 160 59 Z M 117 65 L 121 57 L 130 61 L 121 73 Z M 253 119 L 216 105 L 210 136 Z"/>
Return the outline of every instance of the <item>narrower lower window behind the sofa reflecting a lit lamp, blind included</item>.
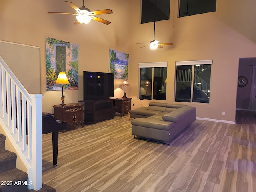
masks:
<path fill-rule="evenodd" d="M 140 99 L 166 100 L 167 62 L 139 63 Z"/>

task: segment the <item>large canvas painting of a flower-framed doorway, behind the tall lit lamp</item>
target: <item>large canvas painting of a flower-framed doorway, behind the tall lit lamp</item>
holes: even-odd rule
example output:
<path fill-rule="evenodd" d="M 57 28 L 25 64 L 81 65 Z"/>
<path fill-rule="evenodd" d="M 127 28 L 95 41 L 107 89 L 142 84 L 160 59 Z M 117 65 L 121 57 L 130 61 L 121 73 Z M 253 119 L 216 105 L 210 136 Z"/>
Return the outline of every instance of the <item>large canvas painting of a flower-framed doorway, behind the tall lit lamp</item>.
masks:
<path fill-rule="evenodd" d="M 46 90 L 62 90 L 55 84 L 59 72 L 66 72 L 65 90 L 78 90 L 78 44 L 46 37 Z"/>

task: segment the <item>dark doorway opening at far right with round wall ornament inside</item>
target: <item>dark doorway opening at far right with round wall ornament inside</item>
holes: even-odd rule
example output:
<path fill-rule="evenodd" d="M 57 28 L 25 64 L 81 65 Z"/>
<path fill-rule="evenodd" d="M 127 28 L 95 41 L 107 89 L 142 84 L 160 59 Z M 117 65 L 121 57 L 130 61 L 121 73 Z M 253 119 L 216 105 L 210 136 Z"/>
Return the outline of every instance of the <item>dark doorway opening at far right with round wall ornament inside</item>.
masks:
<path fill-rule="evenodd" d="M 256 58 L 240 58 L 236 110 L 256 111 Z"/>

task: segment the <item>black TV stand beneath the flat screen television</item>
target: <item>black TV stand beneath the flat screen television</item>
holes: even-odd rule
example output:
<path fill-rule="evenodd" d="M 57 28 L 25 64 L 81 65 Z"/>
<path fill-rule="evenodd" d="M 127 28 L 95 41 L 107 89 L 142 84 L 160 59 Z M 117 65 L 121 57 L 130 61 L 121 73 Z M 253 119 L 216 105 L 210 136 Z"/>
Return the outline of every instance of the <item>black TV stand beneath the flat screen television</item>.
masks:
<path fill-rule="evenodd" d="M 114 118 L 114 99 L 81 100 L 84 103 L 84 124 Z"/>

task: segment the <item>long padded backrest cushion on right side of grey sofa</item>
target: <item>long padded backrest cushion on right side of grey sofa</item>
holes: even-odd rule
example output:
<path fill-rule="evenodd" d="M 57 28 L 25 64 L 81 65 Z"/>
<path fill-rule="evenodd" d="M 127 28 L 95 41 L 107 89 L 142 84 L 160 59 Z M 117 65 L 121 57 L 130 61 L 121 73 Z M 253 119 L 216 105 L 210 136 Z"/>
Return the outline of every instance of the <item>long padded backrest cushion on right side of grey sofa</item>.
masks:
<path fill-rule="evenodd" d="M 184 106 L 182 108 L 178 108 L 177 110 L 174 110 L 168 114 L 165 114 L 163 116 L 163 120 L 165 121 L 172 121 L 172 122 L 178 122 L 182 118 L 188 116 L 191 114 L 196 108 L 190 107 L 190 106 Z"/>

